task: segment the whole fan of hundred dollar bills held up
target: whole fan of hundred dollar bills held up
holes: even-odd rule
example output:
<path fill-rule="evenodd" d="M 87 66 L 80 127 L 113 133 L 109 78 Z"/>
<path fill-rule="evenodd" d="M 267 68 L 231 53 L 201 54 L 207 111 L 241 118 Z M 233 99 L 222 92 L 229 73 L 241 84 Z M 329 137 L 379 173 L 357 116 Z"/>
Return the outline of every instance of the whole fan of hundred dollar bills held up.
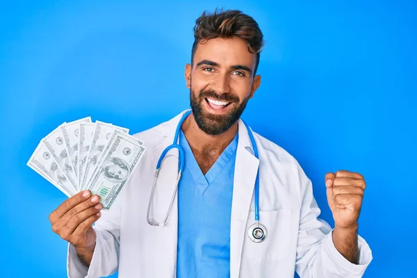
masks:
<path fill-rule="evenodd" d="M 85 117 L 49 133 L 27 165 L 68 197 L 90 190 L 108 210 L 144 153 L 129 129 Z"/>

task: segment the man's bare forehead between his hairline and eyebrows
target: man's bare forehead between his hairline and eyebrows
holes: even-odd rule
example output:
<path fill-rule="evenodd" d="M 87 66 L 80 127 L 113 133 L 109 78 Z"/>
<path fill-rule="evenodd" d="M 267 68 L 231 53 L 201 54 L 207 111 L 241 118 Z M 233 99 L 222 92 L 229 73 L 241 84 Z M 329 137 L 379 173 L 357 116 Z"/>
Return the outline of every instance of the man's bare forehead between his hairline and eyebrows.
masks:
<path fill-rule="evenodd" d="M 215 38 L 199 42 L 193 63 L 211 60 L 220 65 L 245 65 L 254 70 L 256 54 L 247 48 L 247 42 L 241 38 Z"/>

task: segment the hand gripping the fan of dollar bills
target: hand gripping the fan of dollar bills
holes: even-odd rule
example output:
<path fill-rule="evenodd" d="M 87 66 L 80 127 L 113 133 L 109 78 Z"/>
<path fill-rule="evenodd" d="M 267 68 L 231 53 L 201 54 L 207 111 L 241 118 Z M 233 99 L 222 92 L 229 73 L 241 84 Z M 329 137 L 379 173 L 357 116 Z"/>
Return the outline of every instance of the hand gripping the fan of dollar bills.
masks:
<path fill-rule="evenodd" d="M 99 196 L 85 190 L 70 197 L 49 215 L 52 230 L 79 249 L 93 249 L 96 234 L 92 224 L 100 216 Z"/>

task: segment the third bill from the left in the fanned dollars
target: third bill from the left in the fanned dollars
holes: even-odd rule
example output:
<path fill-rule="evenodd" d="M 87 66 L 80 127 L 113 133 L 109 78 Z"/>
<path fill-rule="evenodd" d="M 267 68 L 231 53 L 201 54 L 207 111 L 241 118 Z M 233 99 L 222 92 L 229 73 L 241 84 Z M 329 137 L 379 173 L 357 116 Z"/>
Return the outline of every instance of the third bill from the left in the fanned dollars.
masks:
<path fill-rule="evenodd" d="M 79 133 L 80 123 L 91 122 L 91 117 L 84 117 L 83 119 L 69 122 L 60 126 L 60 130 L 64 136 L 65 146 L 67 147 L 68 154 L 70 155 L 72 167 L 74 168 L 75 175 L 78 182 L 78 147 L 79 147 Z"/>

